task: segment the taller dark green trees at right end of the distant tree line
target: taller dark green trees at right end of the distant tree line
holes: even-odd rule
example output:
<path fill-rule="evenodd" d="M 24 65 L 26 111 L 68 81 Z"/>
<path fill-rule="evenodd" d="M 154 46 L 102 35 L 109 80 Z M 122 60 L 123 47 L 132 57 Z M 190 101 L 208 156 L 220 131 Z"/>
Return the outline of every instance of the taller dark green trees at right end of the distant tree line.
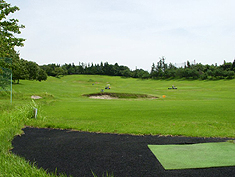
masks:
<path fill-rule="evenodd" d="M 186 62 L 184 67 L 176 67 L 172 63 L 165 63 L 165 57 L 161 57 L 157 64 L 152 65 L 151 77 L 155 79 L 185 78 L 185 79 L 233 79 L 235 73 L 235 59 L 233 63 L 226 62 L 222 65 L 191 64 Z"/>

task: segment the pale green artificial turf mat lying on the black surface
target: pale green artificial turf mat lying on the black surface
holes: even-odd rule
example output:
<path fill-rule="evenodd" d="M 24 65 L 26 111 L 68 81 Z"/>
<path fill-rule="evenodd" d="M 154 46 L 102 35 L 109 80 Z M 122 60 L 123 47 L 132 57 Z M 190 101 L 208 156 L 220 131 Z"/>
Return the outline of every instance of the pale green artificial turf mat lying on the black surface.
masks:
<path fill-rule="evenodd" d="M 235 166 L 234 142 L 148 147 L 166 170 Z"/>

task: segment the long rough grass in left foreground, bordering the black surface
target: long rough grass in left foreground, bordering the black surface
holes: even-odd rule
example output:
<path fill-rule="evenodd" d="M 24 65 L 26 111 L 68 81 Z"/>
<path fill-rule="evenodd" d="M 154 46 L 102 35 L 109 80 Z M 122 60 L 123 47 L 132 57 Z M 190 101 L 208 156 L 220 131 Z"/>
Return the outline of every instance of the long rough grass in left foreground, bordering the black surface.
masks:
<path fill-rule="evenodd" d="M 13 108 L 11 105 L 5 105 L 0 114 L 0 176 L 56 176 L 49 174 L 43 169 L 38 169 L 34 164 L 26 162 L 10 153 L 11 141 L 15 135 L 22 133 L 21 128 L 24 124 L 34 121 L 32 108 L 35 104 L 28 104 Z M 10 111 L 9 111 L 10 110 Z M 42 121 L 38 117 L 38 121 Z M 63 175 L 61 175 L 63 176 Z"/>

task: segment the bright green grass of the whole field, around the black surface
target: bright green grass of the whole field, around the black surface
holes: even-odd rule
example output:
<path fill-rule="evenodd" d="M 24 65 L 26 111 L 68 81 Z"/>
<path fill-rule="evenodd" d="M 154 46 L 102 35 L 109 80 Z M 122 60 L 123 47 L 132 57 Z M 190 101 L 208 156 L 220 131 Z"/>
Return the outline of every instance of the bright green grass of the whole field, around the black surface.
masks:
<path fill-rule="evenodd" d="M 147 94 L 159 98 L 97 100 L 82 96 L 99 93 L 107 84 L 111 90 L 105 90 L 106 93 Z M 168 90 L 172 85 L 178 89 Z M 235 80 L 140 80 L 90 75 L 49 77 L 45 82 L 22 80 L 13 85 L 13 105 L 9 104 L 7 93 L 0 93 L 0 138 L 4 142 L 0 145 L 0 159 L 1 164 L 5 164 L 0 165 L 0 174 L 17 176 L 26 170 L 29 176 L 31 173 L 47 175 L 9 153 L 11 140 L 21 133 L 24 125 L 91 132 L 235 138 L 234 86 Z M 19 113 L 19 105 L 28 105 L 32 95 L 42 97 L 35 100 L 39 105 L 38 120 L 29 119 L 27 111 Z"/>

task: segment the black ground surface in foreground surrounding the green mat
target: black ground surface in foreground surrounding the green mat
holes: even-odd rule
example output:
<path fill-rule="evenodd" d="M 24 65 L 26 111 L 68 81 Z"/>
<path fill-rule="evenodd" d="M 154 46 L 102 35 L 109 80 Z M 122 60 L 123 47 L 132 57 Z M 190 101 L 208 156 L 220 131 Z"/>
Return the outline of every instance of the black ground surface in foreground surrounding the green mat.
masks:
<path fill-rule="evenodd" d="M 115 177 L 235 176 L 235 167 L 164 170 L 148 144 L 222 142 L 221 138 L 132 136 L 55 130 L 23 129 L 12 141 L 12 152 L 49 172 L 90 177 L 108 172 Z"/>

